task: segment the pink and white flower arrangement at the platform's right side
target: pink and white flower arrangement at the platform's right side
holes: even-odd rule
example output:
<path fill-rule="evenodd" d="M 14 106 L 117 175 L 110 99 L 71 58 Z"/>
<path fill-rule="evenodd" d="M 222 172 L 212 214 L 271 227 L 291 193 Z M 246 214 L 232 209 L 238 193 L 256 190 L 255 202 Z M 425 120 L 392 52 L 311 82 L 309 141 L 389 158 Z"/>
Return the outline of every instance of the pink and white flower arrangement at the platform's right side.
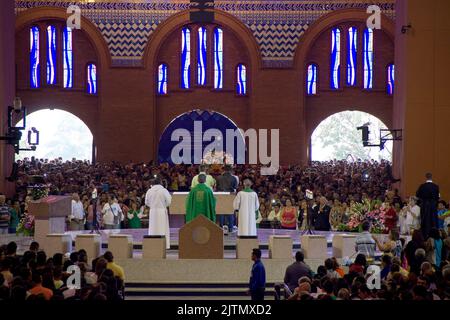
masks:
<path fill-rule="evenodd" d="M 362 203 L 354 203 L 350 206 L 350 214 L 347 223 L 338 226 L 338 231 L 361 232 L 362 223 L 371 223 L 371 232 L 376 234 L 385 233 L 384 225 L 385 210 L 380 201 L 364 200 Z"/>

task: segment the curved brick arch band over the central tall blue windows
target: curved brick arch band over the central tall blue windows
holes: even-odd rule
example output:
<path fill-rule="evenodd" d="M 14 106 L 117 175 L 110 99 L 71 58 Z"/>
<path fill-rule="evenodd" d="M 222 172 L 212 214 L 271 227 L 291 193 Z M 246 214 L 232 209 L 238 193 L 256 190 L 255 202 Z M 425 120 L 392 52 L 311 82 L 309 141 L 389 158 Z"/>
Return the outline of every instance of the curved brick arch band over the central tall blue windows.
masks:
<path fill-rule="evenodd" d="M 252 64 L 252 73 L 260 68 L 262 66 L 262 59 L 259 45 L 250 29 L 238 18 L 222 10 L 214 9 L 214 17 L 215 20 L 213 23 L 228 27 L 245 45 Z M 143 62 L 147 69 L 153 70 L 156 67 L 158 53 L 166 38 L 177 28 L 181 28 L 188 23 L 191 23 L 189 20 L 189 10 L 184 10 L 172 15 L 158 25 L 156 30 L 151 34 L 145 47 Z"/>

